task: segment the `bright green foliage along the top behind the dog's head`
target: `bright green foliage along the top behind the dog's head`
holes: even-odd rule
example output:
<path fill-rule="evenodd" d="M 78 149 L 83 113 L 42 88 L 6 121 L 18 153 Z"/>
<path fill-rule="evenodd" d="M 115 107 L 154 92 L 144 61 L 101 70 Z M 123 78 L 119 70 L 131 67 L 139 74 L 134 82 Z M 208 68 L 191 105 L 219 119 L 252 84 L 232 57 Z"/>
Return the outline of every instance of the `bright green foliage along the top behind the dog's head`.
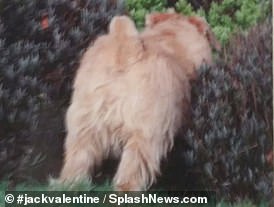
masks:
<path fill-rule="evenodd" d="M 137 3 L 138 2 L 138 3 Z M 145 15 L 151 11 L 165 11 L 167 2 L 163 0 L 126 0 L 127 9 L 138 27 L 144 25 Z M 195 9 L 194 7 L 195 6 Z M 204 7 L 209 8 L 204 8 Z M 269 0 L 222 0 L 201 1 L 178 0 L 175 10 L 184 15 L 199 15 L 207 19 L 221 43 L 228 42 L 232 34 L 246 30 L 271 14 Z"/>

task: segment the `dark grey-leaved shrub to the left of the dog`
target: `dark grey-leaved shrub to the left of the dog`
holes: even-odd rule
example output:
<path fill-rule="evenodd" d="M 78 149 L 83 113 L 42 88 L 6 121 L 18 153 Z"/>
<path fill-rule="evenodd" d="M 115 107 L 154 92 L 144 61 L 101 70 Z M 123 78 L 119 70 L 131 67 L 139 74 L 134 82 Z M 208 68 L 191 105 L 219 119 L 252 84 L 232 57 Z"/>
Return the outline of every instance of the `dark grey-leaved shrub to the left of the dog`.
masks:
<path fill-rule="evenodd" d="M 61 166 L 79 58 L 123 5 L 2 0 L 0 8 L 0 177 L 44 180 Z"/>

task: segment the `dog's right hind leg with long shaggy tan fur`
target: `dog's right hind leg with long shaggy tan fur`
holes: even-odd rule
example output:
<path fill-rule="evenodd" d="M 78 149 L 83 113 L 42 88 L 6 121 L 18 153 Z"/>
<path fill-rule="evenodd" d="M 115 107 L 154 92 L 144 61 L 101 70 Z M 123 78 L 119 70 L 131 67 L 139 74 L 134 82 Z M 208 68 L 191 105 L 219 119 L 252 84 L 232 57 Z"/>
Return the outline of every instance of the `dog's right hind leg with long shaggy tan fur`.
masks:
<path fill-rule="evenodd" d="M 114 188 L 119 191 L 146 190 L 160 171 L 160 159 L 140 134 L 128 140 L 114 177 Z"/>

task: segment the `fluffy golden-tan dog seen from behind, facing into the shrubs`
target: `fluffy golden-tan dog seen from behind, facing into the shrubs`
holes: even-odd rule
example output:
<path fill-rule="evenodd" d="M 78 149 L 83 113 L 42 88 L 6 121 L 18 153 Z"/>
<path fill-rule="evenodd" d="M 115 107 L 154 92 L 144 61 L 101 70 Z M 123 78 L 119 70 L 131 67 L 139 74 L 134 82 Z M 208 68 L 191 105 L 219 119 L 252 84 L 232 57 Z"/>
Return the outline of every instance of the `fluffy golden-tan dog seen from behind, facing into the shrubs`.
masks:
<path fill-rule="evenodd" d="M 61 181 L 89 176 L 113 156 L 120 158 L 115 189 L 149 188 L 186 121 L 189 81 L 212 62 L 212 45 L 219 47 L 200 17 L 154 13 L 141 33 L 128 17 L 114 17 L 75 78 Z"/>

